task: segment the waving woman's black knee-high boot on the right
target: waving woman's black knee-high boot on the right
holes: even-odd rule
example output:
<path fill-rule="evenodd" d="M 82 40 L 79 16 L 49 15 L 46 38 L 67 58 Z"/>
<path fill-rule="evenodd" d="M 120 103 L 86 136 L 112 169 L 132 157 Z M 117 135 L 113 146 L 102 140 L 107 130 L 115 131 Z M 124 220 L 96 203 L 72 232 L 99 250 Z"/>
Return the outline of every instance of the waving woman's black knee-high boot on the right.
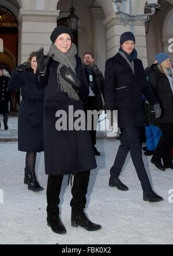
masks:
<path fill-rule="evenodd" d="M 81 173 L 74 174 L 72 187 L 73 198 L 70 202 L 70 206 L 72 206 L 71 224 L 75 228 L 81 226 L 87 231 L 97 231 L 101 229 L 101 225 L 91 222 L 84 213 L 89 174 L 90 171 L 82 171 Z"/>

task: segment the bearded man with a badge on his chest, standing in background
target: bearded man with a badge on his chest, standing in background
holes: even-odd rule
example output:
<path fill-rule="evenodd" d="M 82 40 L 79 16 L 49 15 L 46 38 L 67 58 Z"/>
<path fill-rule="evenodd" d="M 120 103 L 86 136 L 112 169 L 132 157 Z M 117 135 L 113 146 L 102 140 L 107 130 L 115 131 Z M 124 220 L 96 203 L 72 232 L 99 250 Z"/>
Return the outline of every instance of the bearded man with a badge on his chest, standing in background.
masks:
<path fill-rule="evenodd" d="M 85 110 L 100 111 L 101 109 L 103 109 L 102 97 L 104 97 L 104 76 L 99 68 L 93 64 L 95 59 L 91 52 L 85 52 L 83 57 L 84 70 L 89 86 L 89 96 L 87 103 L 85 104 Z M 97 151 L 97 148 L 95 147 L 96 129 L 97 127 L 92 127 L 92 130 L 90 130 L 90 134 L 95 155 L 100 156 L 100 152 Z"/>

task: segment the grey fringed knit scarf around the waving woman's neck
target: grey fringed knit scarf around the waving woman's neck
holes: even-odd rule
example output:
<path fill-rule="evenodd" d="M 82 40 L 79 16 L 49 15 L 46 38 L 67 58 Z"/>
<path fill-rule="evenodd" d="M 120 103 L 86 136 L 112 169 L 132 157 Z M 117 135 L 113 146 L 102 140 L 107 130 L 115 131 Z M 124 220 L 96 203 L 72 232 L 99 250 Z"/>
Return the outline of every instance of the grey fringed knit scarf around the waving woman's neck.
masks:
<path fill-rule="evenodd" d="M 69 67 L 72 68 L 72 70 L 76 74 L 76 71 L 75 71 L 76 54 L 77 54 L 77 47 L 76 45 L 74 45 L 74 43 L 72 43 L 67 53 L 62 53 L 61 50 L 59 50 L 58 47 L 54 45 L 54 43 L 51 44 L 50 50 L 49 50 L 49 55 L 53 56 L 52 58 L 55 61 L 59 62 L 58 70 L 57 70 L 58 88 L 60 86 L 61 92 L 67 93 L 69 98 L 73 100 L 79 100 L 78 94 L 76 93 L 76 90 L 73 89 L 72 85 L 62 78 L 59 70 L 63 65 L 66 65 L 67 68 Z"/>

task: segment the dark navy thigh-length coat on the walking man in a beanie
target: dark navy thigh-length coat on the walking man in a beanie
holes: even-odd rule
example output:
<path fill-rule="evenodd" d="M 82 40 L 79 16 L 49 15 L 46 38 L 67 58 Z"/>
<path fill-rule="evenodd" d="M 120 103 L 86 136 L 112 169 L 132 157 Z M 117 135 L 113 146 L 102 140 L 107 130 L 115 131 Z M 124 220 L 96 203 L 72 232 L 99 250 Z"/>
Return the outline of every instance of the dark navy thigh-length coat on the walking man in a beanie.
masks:
<path fill-rule="evenodd" d="M 142 61 L 134 60 L 134 73 L 121 54 L 106 61 L 104 101 L 106 110 L 118 110 L 118 127 L 144 125 L 145 95 L 152 105 L 158 103 L 152 86 L 146 81 Z"/>

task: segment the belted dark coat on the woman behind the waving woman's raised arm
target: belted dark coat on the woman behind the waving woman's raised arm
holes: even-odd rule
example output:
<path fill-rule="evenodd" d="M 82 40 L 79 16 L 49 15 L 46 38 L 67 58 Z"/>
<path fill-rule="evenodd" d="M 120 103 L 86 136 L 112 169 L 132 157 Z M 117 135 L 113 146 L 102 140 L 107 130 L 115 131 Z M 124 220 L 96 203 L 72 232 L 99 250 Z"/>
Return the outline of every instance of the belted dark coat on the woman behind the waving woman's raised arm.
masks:
<path fill-rule="evenodd" d="M 22 101 L 18 109 L 18 150 L 43 151 L 43 100 L 44 87 L 39 87 L 38 75 L 32 70 L 13 70 L 8 88 L 21 87 Z"/>

